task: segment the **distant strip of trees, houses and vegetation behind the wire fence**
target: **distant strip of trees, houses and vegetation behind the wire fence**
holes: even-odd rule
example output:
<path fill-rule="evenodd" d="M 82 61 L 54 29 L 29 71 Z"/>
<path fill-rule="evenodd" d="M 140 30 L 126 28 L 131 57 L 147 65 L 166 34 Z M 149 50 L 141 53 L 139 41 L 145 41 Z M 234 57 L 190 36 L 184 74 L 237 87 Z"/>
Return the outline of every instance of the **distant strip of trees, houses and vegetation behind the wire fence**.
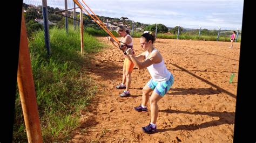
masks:
<path fill-rule="evenodd" d="M 23 4 L 26 19 L 26 27 L 28 30 L 28 35 L 30 36 L 32 32 L 41 30 L 43 28 L 42 24 L 39 24 L 35 19 L 43 18 L 42 16 L 42 6 L 31 6 L 28 4 Z M 50 22 L 55 23 L 55 25 L 50 25 L 51 27 L 64 28 L 65 27 L 65 17 L 56 15 L 55 12 L 59 11 L 59 8 L 52 8 L 48 6 L 48 18 Z M 73 12 L 68 11 L 68 16 L 73 17 Z M 127 17 L 120 18 L 111 18 L 98 16 L 102 22 L 109 22 L 110 25 L 118 26 L 123 24 L 131 30 L 132 34 L 132 20 Z M 76 16 L 79 19 L 79 14 Z M 73 25 L 73 20 L 68 19 L 69 25 Z M 77 22 L 78 23 L 78 22 Z M 106 32 L 102 30 L 96 23 L 92 22 L 92 19 L 89 16 L 83 15 L 84 31 L 96 35 L 96 36 L 106 36 Z M 140 37 L 143 31 L 154 31 L 156 32 L 156 24 L 143 24 L 139 22 L 134 22 L 134 33 L 133 37 Z M 116 31 L 113 29 L 112 33 L 115 36 L 118 36 Z M 178 26 L 176 27 L 167 27 L 164 24 L 157 24 L 157 35 L 158 38 L 168 38 L 168 39 L 177 39 Z M 207 30 L 206 28 L 202 29 L 199 37 L 199 29 L 187 29 L 180 27 L 179 39 L 192 39 L 192 40 L 217 40 L 218 30 Z M 232 35 L 231 30 L 221 30 L 219 41 L 230 41 L 230 36 Z M 241 31 L 239 31 L 238 41 L 241 40 Z"/>

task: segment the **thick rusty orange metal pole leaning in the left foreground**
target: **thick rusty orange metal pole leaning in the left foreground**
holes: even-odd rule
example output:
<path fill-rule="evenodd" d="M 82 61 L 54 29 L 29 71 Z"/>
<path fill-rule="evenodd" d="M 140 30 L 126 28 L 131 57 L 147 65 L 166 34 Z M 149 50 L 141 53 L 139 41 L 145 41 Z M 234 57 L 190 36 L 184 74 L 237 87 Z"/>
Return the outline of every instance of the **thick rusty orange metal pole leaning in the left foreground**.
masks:
<path fill-rule="evenodd" d="M 19 42 L 18 89 L 29 142 L 43 142 L 33 82 L 24 13 L 22 12 L 21 40 Z"/>

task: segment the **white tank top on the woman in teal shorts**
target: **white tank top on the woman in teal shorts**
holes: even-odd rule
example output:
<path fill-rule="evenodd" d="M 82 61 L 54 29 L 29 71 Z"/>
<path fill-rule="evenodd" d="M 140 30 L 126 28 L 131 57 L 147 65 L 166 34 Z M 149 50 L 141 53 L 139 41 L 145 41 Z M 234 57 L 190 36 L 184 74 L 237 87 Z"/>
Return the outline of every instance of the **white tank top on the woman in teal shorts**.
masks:
<path fill-rule="evenodd" d="M 153 52 L 157 52 L 157 49 L 153 49 Z M 146 52 L 146 58 L 149 55 L 149 52 Z M 168 81 L 171 77 L 171 72 L 165 67 L 164 59 L 159 63 L 153 63 L 149 67 L 147 67 L 149 73 L 154 81 L 161 82 L 161 81 Z"/>

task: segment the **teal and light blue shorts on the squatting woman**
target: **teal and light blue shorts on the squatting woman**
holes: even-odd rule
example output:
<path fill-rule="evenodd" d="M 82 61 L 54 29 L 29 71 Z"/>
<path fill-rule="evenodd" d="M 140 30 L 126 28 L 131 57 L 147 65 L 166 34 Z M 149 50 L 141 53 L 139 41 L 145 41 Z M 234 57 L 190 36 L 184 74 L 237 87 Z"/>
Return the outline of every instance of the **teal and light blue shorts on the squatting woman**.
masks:
<path fill-rule="evenodd" d="M 161 81 L 156 82 L 152 78 L 149 82 L 147 82 L 147 86 L 149 86 L 151 89 L 154 90 L 158 95 L 161 97 L 164 97 L 164 95 L 170 90 L 174 82 L 173 75 L 171 74 L 171 77 L 168 81 Z"/>

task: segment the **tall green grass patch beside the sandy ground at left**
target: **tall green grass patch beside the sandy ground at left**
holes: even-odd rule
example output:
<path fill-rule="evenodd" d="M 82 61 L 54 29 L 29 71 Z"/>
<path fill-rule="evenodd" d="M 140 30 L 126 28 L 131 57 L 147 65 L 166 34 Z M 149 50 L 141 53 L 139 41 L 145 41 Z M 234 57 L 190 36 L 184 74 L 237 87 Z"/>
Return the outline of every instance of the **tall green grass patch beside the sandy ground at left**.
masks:
<path fill-rule="evenodd" d="M 38 31 L 29 40 L 33 81 L 45 141 L 66 141 L 79 126 L 79 111 L 90 103 L 97 86 L 85 75 L 88 54 L 100 51 L 104 45 L 84 33 L 84 52 L 80 54 L 80 34 L 69 28 L 50 30 L 51 56 L 44 47 L 44 33 Z M 17 90 L 15 105 L 14 142 L 27 142 L 21 101 Z"/>

